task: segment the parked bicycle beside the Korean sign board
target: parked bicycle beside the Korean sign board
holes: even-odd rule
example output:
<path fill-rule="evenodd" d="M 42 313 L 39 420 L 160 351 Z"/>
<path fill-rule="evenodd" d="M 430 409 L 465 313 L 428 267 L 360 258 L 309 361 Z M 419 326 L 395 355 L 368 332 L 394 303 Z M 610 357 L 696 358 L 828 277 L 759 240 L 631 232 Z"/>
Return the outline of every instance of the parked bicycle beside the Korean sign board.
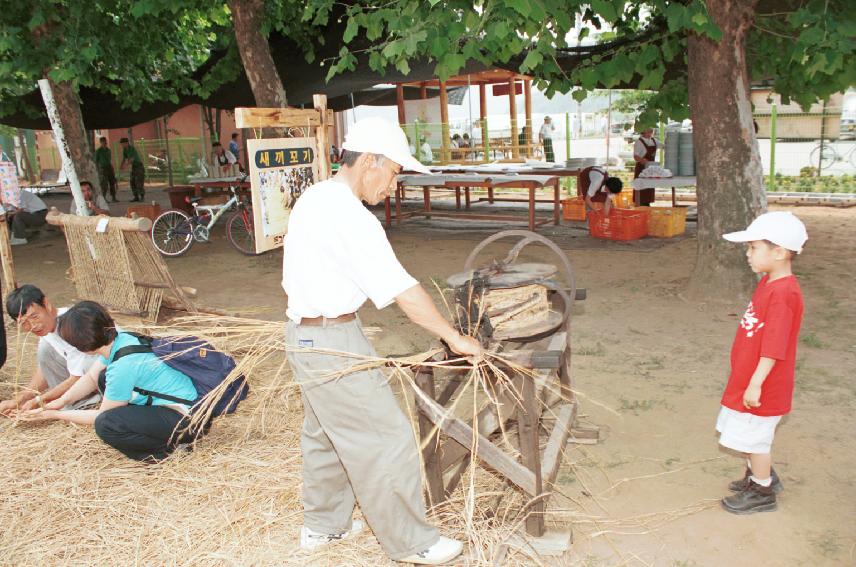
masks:
<path fill-rule="evenodd" d="M 238 195 L 237 188 L 229 187 L 232 197 L 221 205 L 200 205 L 202 197 L 188 197 L 193 214 L 179 209 L 161 213 L 152 223 L 152 242 L 164 256 L 175 258 L 187 254 L 194 242 L 208 242 L 211 228 L 233 206 L 237 208 L 226 223 L 226 234 L 238 252 L 256 255 L 252 205 Z"/>

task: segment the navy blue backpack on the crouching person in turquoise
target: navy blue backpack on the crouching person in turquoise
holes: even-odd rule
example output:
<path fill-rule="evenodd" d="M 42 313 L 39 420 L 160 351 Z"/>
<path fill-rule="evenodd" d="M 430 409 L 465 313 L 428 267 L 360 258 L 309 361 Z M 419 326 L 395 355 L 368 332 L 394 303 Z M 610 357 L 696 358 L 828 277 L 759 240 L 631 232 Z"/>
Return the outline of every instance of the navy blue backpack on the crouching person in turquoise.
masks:
<path fill-rule="evenodd" d="M 188 376 L 196 388 L 196 399 L 185 400 L 168 394 L 135 387 L 135 392 L 149 398 L 146 405 L 151 405 L 152 398 L 154 397 L 190 406 L 191 412 L 193 412 L 199 407 L 197 404 L 202 398 L 220 386 L 236 366 L 235 360 L 231 356 L 220 352 L 208 341 L 197 337 L 153 338 L 138 335 L 137 333 L 128 334 L 136 337 L 140 341 L 140 344 L 120 348 L 116 351 L 113 361 L 119 360 L 129 354 L 150 352 L 165 364 Z M 106 369 L 99 376 L 98 386 L 103 393 L 106 386 Z M 226 387 L 223 395 L 220 396 L 220 399 L 214 405 L 211 416 L 217 417 L 224 413 L 234 412 L 238 404 L 247 397 L 249 392 L 250 386 L 247 384 L 247 378 L 242 374 Z"/>

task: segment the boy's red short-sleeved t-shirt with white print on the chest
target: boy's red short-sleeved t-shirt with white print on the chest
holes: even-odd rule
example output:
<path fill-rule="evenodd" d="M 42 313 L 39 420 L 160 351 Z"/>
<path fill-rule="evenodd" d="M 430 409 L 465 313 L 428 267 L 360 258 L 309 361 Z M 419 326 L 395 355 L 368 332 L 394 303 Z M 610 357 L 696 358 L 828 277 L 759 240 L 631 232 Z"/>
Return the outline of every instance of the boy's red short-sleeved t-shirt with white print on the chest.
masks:
<path fill-rule="evenodd" d="M 785 415 L 791 411 L 797 339 L 802 322 L 802 290 L 795 276 L 769 282 L 764 276 L 743 314 L 731 346 L 731 375 L 722 405 L 755 415 Z M 746 409 L 743 393 L 762 357 L 776 363 L 761 386 L 761 405 Z"/>

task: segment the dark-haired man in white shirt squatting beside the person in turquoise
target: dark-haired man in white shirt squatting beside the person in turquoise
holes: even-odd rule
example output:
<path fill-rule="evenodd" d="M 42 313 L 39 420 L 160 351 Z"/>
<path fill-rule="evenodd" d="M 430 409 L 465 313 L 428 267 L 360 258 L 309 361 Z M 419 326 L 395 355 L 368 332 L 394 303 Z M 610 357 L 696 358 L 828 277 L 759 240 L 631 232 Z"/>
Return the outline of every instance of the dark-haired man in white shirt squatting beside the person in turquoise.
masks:
<path fill-rule="evenodd" d="M 30 382 L 12 399 L 0 402 L 0 413 L 29 410 L 62 396 L 87 371 L 103 368 L 97 355 L 83 354 L 57 334 L 56 318 L 67 311 L 57 309 L 34 285 L 22 285 L 6 298 L 6 312 L 17 321 L 18 329 L 39 337 L 38 366 Z M 92 368 L 93 364 L 97 368 Z M 98 403 L 100 394 L 87 396 L 70 407 L 78 409 Z"/>

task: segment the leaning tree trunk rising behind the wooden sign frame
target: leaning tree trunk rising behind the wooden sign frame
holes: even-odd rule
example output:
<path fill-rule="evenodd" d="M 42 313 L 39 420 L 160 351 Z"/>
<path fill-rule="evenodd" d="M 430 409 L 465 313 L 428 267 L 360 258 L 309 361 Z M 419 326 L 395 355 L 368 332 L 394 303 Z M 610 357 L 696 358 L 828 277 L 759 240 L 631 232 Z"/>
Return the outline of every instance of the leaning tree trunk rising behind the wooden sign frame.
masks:
<path fill-rule="evenodd" d="M 267 38 L 262 34 L 264 0 L 229 0 L 235 39 L 256 106 L 288 106 L 285 87 L 274 65 Z"/>

